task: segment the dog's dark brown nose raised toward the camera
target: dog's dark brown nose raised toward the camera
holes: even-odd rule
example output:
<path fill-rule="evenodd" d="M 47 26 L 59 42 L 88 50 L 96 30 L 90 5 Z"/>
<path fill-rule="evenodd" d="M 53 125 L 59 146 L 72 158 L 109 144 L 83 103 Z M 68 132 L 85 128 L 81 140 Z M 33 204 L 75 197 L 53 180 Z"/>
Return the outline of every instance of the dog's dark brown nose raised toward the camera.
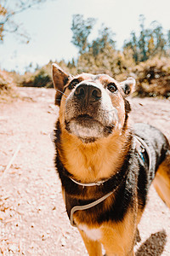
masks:
<path fill-rule="evenodd" d="M 74 95 L 82 100 L 87 99 L 88 102 L 96 102 L 101 98 L 101 90 L 94 85 L 80 84 Z"/>

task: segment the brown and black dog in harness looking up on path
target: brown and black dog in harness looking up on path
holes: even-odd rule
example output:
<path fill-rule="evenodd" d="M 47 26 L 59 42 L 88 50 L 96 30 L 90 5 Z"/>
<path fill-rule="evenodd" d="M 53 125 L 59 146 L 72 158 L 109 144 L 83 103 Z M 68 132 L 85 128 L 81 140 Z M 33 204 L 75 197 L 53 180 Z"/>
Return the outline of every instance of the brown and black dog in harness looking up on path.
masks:
<path fill-rule="evenodd" d="M 150 183 L 170 207 L 170 146 L 156 128 L 129 127 L 134 79 L 73 77 L 53 65 L 59 119 L 55 166 L 66 211 L 91 256 L 134 255 Z"/>

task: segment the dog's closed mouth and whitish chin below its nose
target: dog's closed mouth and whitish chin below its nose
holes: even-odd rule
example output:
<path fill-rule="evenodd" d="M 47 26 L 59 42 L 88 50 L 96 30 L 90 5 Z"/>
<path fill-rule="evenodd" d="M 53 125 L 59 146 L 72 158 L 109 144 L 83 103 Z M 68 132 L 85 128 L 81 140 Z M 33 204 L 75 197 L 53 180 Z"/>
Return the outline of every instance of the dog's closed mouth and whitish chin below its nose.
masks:
<path fill-rule="evenodd" d="M 65 120 L 65 129 L 79 137 L 83 143 L 92 143 L 100 137 L 108 137 L 115 125 L 103 125 L 89 114 L 80 114 L 70 121 Z"/>

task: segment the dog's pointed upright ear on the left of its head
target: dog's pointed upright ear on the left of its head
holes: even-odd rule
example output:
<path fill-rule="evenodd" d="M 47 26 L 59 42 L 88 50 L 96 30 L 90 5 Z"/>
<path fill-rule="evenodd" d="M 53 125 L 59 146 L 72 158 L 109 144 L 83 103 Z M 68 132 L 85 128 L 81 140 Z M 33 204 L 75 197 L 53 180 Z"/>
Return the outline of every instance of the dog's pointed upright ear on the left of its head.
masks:
<path fill-rule="evenodd" d="M 62 70 L 57 64 L 53 63 L 53 82 L 55 94 L 55 104 L 60 105 L 61 97 L 63 96 L 63 90 L 65 84 L 68 83 L 70 76 Z"/>

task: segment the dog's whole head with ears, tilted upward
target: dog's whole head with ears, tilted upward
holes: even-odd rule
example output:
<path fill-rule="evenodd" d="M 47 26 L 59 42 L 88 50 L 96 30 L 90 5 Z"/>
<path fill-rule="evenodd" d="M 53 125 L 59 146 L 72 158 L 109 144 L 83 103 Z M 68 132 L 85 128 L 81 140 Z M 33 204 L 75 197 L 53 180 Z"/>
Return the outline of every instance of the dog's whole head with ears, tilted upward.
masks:
<path fill-rule="evenodd" d="M 59 122 L 71 136 L 92 143 L 125 128 L 130 111 L 126 96 L 133 90 L 133 78 L 118 83 L 105 74 L 73 77 L 53 64 L 53 80 Z"/>

